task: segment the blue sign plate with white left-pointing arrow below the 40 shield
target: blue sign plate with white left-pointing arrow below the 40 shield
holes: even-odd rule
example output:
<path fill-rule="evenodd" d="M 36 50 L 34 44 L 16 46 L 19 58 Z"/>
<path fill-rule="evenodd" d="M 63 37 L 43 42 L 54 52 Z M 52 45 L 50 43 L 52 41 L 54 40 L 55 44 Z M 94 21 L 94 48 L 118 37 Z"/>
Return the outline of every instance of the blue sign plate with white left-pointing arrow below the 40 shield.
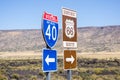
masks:
<path fill-rule="evenodd" d="M 57 70 L 57 51 L 43 49 L 43 72 L 53 72 Z"/>

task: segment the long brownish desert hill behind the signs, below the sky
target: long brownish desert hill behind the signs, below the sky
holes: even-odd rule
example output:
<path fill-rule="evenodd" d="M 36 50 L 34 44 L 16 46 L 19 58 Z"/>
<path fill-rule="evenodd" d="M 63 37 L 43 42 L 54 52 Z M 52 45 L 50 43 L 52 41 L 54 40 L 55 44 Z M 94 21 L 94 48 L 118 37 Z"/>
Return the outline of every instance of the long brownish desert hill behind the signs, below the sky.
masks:
<path fill-rule="evenodd" d="M 120 51 L 120 25 L 78 28 L 78 52 Z M 42 31 L 0 30 L 0 52 L 41 51 L 45 48 Z M 62 31 L 54 49 L 62 52 Z"/>

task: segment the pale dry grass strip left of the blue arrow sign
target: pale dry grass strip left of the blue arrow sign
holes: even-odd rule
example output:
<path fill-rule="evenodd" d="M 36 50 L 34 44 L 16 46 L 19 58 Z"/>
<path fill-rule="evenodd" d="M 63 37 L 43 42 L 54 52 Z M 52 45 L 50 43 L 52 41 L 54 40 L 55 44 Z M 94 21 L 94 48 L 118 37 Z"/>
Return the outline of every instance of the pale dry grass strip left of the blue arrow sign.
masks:
<path fill-rule="evenodd" d="M 0 59 L 40 59 L 41 53 L 34 51 L 24 51 L 24 52 L 0 52 Z"/>

